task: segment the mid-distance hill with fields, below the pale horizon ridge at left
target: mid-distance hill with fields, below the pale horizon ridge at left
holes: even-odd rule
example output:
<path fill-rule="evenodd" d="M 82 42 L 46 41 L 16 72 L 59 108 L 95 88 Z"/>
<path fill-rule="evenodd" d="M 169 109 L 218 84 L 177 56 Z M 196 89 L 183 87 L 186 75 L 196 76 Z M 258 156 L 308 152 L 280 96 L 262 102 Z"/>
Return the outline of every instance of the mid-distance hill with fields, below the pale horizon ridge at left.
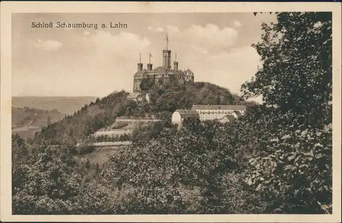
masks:
<path fill-rule="evenodd" d="M 29 107 L 12 107 L 12 133 L 24 139 L 34 138 L 34 134 L 47 124 L 57 122 L 66 114 L 53 110 L 34 109 Z"/>

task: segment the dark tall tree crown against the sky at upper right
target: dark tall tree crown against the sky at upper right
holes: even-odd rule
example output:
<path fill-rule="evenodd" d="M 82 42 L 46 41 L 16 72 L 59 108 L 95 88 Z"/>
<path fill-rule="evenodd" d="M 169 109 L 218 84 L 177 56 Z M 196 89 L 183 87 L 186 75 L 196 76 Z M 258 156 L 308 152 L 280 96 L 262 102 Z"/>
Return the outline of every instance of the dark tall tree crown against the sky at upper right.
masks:
<path fill-rule="evenodd" d="M 263 67 L 241 87 L 244 96 L 318 124 L 332 101 L 331 28 L 330 12 L 280 13 L 277 23 L 264 23 L 263 41 L 252 45 Z"/>

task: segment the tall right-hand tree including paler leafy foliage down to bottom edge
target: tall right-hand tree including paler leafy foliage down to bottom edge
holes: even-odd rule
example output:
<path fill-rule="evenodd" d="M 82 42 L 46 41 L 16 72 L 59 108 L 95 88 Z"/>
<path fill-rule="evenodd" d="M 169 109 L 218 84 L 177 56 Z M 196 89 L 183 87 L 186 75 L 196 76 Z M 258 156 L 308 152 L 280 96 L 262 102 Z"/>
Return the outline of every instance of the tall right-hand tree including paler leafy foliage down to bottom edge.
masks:
<path fill-rule="evenodd" d="M 330 12 L 282 12 L 253 47 L 263 62 L 244 98 L 263 96 L 239 126 L 246 182 L 272 213 L 329 213 L 332 203 Z"/>

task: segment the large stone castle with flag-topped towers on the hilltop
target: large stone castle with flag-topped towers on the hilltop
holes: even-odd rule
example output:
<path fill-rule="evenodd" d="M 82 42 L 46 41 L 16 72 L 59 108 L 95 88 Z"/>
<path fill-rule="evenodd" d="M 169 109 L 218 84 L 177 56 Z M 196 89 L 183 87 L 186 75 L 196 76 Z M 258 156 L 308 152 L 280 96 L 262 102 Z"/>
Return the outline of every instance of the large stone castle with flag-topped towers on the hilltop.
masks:
<path fill-rule="evenodd" d="M 174 57 L 173 69 L 171 68 L 171 50 L 168 49 L 168 34 L 166 34 L 166 49 L 163 50 L 163 66 L 157 66 L 153 69 L 153 64 L 150 62 L 152 57 L 149 54 L 149 63 L 146 69 L 143 68 L 140 61 L 137 64 L 137 72 L 134 74 L 133 80 L 133 92 L 142 92 L 142 82 L 145 80 L 153 81 L 154 83 L 166 83 L 170 81 L 176 81 L 177 83 L 183 84 L 187 82 L 194 82 L 194 73 L 192 70 L 179 70 L 177 55 Z M 152 82 L 152 83 L 153 83 Z"/>

